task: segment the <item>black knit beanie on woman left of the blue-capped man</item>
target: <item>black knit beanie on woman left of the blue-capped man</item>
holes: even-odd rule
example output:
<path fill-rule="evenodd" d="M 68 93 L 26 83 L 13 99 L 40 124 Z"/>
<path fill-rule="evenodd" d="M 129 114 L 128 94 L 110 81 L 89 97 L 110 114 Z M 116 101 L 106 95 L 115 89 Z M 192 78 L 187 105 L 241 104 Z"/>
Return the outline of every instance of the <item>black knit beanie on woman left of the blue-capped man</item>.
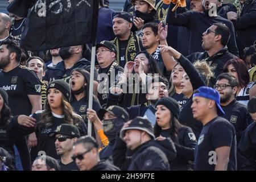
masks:
<path fill-rule="evenodd" d="M 174 98 L 171 97 L 163 97 L 159 101 L 156 102 L 155 106 L 164 105 L 166 106 L 174 115 L 175 118 L 179 119 L 180 115 L 180 106 Z"/>

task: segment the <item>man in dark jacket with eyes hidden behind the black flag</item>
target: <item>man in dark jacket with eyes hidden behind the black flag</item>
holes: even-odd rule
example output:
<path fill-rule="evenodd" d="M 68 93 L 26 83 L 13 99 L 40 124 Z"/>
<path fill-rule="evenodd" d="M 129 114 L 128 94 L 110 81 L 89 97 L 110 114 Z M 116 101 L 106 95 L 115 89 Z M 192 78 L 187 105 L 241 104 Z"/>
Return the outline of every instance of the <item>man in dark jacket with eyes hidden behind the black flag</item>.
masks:
<path fill-rule="evenodd" d="M 59 55 L 63 60 L 57 63 L 55 67 L 48 67 L 43 80 L 50 83 L 53 80 L 62 79 L 68 83 L 73 69 L 84 68 L 86 71 L 90 72 L 90 61 L 82 58 L 83 49 L 84 46 L 82 45 L 60 48 Z M 97 77 L 98 72 L 94 69 L 94 90 L 97 89 L 96 86 L 98 85 L 98 82 L 96 81 Z"/>

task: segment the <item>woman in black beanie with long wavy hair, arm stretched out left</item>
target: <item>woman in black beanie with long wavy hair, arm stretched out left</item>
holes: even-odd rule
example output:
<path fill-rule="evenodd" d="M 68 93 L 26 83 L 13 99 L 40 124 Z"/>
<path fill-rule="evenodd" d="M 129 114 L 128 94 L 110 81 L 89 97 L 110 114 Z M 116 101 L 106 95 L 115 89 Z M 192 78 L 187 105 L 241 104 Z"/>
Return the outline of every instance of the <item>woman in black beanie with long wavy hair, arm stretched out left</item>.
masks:
<path fill-rule="evenodd" d="M 64 80 L 52 81 L 47 86 L 47 101 L 44 110 L 36 111 L 31 117 L 36 119 L 36 123 L 20 123 L 17 127 L 18 135 L 27 135 L 35 132 L 37 138 L 36 155 L 42 155 L 39 151 L 44 151 L 52 158 L 60 159 L 56 153 L 55 140 L 48 137 L 48 133 L 55 131 L 57 126 L 67 123 L 79 128 L 80 134 L 87 133 L 86 126 L 80 115 L 73 111 L 69 104 L 71 89 Z M 36 126 L 36 127 L 35 127 Z M 34 160 L 36 156 L 31 156 Z"/>

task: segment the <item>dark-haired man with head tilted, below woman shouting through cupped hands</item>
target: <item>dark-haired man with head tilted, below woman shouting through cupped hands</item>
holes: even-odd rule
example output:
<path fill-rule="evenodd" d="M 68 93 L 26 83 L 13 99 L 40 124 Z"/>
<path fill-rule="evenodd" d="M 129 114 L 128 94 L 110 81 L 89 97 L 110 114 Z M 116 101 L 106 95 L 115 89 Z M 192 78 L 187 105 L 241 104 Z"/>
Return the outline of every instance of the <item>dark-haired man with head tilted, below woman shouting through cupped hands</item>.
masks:
<path fill-rule="evenodd" d="M 155 104 L 160 98 L 168 97 L 168 81 L 165 77 L 152 77 L 147 85 L 146 100 L 149 102 L 148 105 L 134 105 L 131 107 L 126 107 L 125 110 L 129 114 L 130 119 L 134 119 L 137 116 L 147 118 L 152 125 L 155 124 Z M 108 99 L 108 104 L 116 105 L 118 103 L 117 97 L 110 97 Z"/>

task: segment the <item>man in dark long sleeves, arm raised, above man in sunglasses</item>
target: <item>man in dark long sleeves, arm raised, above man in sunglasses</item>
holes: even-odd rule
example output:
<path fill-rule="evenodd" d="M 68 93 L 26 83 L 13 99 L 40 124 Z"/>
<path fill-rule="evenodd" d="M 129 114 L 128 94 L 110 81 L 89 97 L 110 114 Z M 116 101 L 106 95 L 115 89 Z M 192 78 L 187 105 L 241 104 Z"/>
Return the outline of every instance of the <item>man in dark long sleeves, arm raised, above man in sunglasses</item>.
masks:
<path fill-rule="evenodd" d="M 187 11 L 180 13 L 180 11 L 182 12 L 183 9 L 181 7 L 178 7 L 176 11 L 171 11 L 175 6 L 174 3 L 171 3 L 166 22 L 176 26 L 189 28 L 192 36 L 189 38 L 188 54 L 202 52 L 203 48 L 201 47 L 201 35 L 203 32 L 214 23 L 223 23 L 230 30 L 230 40 L 227 44 L 229 52 L 233 53 L 234 55 L 238 55 L 234 26 L 230 20 L 224 19 L 217 15 L 217 11 L 215 12 L 212 5 L 210 5 L 212 2 L 214 2 L 214 0 L 202 1 L 204 13 L 197 11 Z M 224 47 L 225 46 L 226 45 L 224 45 Z"/>

